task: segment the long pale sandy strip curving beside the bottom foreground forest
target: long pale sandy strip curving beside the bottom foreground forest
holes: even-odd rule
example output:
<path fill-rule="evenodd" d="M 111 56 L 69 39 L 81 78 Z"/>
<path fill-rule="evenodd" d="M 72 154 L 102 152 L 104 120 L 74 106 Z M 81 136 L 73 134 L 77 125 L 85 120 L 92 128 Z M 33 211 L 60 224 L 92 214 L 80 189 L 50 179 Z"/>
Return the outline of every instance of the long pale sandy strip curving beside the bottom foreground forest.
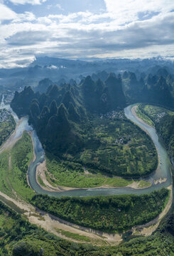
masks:
<path fill-rule="evenodd" d="M 23 212 L 23 215 L 26 216 L 26 218 L 28 218 L 28 220 L 32 224 L 36 224 L 38 225 L 38 227 L 43 228 L 50 233 L 58 235 L 58 237 L 60 238 L 71 240 L 72 242 L 82 242 L 74 240 L 72 238 L 66 238 L 66 236 L 61 235 L 60 232 L 58 232 L 58 230 L 65 230 L 70 233 L 83 235 L 91 240 L 90 243 L 98 246 L 119 245 L 119 243 L 122 241 L 121 235 L 119 234 L 107 234 L 97 230 L 92 230 L 90 228 L 83 228 L 80 225 L 69 223 L 66 220 L 61 220 L 60 218 L 45 213 L 42 210 L 38 210 L 35 207 L 33 207 L 30 203 L 26 203 L 25 201 L 22 201 L 19 198 L 10 198 L 1 191 L 0 196 L 0 200 L 3 203 L 5 203 L 7 206 L 10 206 L 11 208 L 13 208 L 11 204 L 15 205 L 18 208 L 18 212 L 20 212 L 21 210 L 21 212 Z"/>

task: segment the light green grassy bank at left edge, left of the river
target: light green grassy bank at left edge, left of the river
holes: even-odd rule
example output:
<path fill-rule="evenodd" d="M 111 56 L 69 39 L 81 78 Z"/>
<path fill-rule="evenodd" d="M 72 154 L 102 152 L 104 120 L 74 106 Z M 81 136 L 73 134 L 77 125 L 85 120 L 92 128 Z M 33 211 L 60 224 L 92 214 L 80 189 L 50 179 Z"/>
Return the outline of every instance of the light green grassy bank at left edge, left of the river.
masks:
<path fill-rule="evenodd" d="M 28 201 L 35 194 L 28 186 L 26 174 L 33 159 L 33 144 L 27 132 L 13 149 L 0 155 L 0 190 L 8 196 Z"/>

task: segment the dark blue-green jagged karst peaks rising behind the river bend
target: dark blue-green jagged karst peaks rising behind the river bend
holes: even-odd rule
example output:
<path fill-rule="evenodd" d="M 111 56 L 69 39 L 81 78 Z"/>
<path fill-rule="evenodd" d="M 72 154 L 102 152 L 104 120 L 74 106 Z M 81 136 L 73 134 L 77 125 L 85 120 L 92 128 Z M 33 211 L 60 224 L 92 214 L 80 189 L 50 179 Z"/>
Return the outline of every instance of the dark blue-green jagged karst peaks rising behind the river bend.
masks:
<path fill-rule="evenodd" d="M 28 114 L 45 149 L 57 154 L 77 151 L 85 143 L 85 125 L 93 114 L 123 110 L 126 105 L 146 102 L 174 108 L 173 75 L 165 68 L 156 74 L 125 71 L 122 75 L 102 71 L 77 83 L 45 78 L 34 90 L 16 92 L 11 107 L 19 117 Z M 92 79 L 93 78 L 93 79 Z M 81 132 L 80 132 L 81 131 Z"/>

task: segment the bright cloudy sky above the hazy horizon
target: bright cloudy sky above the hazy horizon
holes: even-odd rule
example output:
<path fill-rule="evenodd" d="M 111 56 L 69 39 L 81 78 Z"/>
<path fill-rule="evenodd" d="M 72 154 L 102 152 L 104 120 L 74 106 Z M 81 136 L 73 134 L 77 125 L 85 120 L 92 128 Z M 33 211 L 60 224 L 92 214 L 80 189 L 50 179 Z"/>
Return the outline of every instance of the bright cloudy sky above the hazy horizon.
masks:
<path fill-rule="evenodd" d="M 0 0 L 0 68 L 37 55 L 174 59 L 174 1 Z"/>

